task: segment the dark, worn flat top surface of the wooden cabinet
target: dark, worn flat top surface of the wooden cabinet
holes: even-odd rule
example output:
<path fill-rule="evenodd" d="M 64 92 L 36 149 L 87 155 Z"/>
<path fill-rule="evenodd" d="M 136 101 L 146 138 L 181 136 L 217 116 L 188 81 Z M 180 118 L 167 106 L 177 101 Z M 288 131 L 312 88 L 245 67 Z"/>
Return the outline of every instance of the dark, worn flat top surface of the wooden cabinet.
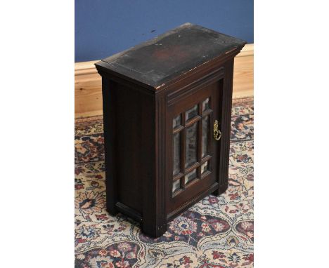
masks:
<path fill-rule="evenodd" d="M 183 24 L 96 63 L 105 69 L 152 86 L 164 86 L 177 76 L 234 50 L 245 41 L 211 29 Z"/>

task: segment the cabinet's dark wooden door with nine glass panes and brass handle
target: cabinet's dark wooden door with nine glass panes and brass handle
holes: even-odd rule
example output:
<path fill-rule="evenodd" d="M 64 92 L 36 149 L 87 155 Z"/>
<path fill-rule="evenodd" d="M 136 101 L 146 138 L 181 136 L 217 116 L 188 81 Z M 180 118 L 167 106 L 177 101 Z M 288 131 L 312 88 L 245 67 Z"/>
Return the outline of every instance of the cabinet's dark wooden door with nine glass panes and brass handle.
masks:
<path fill-rule="evenodd" d="M 192 91 L 168 107 L 167 213 L 172 215 L 217 183 L 222 80 Z"/>

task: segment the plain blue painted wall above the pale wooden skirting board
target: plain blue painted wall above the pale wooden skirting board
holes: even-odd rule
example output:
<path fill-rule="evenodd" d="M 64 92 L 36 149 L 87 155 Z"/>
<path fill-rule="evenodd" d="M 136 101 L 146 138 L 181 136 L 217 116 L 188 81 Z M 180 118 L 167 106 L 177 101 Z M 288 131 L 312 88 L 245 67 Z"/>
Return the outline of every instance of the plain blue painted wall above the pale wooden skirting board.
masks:
<path fill-rule="evenodd" d="M 185 22 L 254 42 L 253 0 L 75 0 L 75 62 L 99 60 Z"/>

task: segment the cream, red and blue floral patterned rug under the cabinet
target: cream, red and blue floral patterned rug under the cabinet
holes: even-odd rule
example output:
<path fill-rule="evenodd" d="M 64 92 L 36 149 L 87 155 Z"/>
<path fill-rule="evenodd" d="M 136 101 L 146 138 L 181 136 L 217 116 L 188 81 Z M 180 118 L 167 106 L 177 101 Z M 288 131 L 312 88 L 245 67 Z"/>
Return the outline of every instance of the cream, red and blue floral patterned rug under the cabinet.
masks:
<path fill-rule="evenodd" d="M 75 267 L 253 267 L 253 99 L 233 100 L 228 190 L 207 196 L 158 239 L 105 210 L 103 121 L 75 121 Z"/>

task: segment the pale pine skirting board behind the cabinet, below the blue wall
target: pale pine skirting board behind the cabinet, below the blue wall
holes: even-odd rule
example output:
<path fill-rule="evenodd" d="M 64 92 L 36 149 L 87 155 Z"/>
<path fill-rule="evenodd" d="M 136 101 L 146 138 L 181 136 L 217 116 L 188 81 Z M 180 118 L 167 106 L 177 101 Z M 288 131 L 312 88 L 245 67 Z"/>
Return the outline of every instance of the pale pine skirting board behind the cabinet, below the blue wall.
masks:
<path fill-rule="evenodd" d="M 102 81 L 91 62 L 75 63 L 75 117 L 103 114 Z M 247 44 L 234 61 L 233 98 L 254 95 L 254 44 Z"/>

